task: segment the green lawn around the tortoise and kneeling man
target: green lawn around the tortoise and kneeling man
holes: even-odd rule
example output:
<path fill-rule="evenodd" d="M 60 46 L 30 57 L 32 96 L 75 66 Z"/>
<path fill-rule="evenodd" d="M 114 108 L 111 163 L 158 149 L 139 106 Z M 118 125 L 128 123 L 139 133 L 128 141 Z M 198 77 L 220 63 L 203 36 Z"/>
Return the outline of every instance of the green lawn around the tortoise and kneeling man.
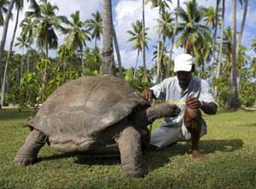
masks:
<path fill-rule="evenodd" d="M 58 153 L 45 145 L 38 163 L 16 167 L 12 161 L 26 139 L 28 110 L 0 110 L 0 188 L 256 188 L 256 112 L 218 112 L 204 116 L 208 135 L 201 139 L 206 159 L 191 158 L 178 143 L 148 152 L 148 175 L 125 175 L 119 157 Z M 160 120 L 154 123 L 154 129 Z"/>

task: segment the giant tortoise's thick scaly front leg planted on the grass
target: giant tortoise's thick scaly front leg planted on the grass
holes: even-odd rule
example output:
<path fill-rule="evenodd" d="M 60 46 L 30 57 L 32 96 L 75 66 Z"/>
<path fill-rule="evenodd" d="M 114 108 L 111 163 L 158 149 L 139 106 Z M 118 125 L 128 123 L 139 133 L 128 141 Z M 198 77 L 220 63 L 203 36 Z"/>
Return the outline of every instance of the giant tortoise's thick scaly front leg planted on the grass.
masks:
<path fill-rule="evenodd" d="M 143 177 L 143 152 L 140 132 L 132 126 L 125 127 L 115 138 L 121 156 L 122 169 L 132 177 Z"/>

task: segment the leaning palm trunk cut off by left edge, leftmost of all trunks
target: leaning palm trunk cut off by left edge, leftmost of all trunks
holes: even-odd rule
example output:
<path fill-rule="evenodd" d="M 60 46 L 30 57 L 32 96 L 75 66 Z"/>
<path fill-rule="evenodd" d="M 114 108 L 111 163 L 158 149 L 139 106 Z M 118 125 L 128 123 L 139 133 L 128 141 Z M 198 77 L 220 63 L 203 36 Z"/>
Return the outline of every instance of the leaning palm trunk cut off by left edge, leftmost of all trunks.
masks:
<path fill-rule="evenodd" d="M 0 68 L 2 67 L 2 60 L 3 60 L 3 49 L 6 41 L 6 36 L 7 36 L 7 31 L 8 31 L 8 26 L 9 26 L 9 18 L 10 14 L 12 12 L 12 9 L 14 7 L 15 0 L 10 0 L 9 2 L 9 9 L 7 11 L 7 14 L 5 16 L 4 24 L 3 24 L 3 36 L 0 44 Z M 0 69 L 0 76 L 2 76 Z"/>

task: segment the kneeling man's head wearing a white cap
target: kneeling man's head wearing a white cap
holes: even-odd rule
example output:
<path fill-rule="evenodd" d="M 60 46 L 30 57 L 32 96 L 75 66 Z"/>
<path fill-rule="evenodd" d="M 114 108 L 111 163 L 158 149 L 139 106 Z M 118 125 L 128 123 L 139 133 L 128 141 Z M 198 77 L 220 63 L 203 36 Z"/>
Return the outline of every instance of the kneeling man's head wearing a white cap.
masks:
<path fill-rule="evenodd" d="M 182 88 L 187 88 L 195 70 L 195 64 L 190 54 L 179 54 L 174 60 L 174 72 L 177 73 L 178 83 Z"/>

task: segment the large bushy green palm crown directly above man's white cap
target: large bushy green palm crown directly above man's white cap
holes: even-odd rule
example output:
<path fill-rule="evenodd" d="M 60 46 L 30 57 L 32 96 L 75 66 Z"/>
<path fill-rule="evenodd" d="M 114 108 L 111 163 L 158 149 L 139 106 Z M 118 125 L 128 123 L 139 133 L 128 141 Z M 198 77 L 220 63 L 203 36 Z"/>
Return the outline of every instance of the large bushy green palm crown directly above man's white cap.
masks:
<path fill-rule="evenodd" d="M 187 12 L 180 9 L 178 12 L 179 17 L 184 23 L 179 23 L 179 29 L 182 31 L 177 38 L 177 47 L 184 47 L 185 53 L 198 55 L 198 49 L 201 49 L 206 43 L 209 36 L 209 28 L 200 25 L 201 7 L 198 7 L 195 0 L 185 3 Z"/>

